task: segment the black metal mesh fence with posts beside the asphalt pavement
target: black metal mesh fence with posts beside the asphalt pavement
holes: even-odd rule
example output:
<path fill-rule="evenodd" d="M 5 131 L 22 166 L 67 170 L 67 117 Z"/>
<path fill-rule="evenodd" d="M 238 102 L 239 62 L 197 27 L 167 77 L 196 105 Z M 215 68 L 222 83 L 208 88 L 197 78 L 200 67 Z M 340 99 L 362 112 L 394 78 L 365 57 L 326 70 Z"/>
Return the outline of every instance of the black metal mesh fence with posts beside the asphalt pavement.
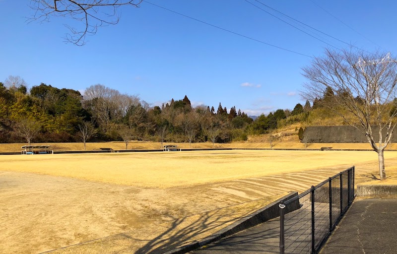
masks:
<path fill-rule="evenodd" d="M 354 166 L 281 202 L 280 254 L 317 254 L 354 199 Z"/>

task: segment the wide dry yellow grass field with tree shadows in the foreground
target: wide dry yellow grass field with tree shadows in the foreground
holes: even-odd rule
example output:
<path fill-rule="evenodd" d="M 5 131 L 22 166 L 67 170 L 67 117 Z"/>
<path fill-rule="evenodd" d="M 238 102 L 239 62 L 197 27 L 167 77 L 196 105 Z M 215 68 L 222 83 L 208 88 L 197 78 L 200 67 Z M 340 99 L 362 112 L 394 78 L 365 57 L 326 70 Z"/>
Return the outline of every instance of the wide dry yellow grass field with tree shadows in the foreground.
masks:
<path fill-rule="evenodd" d="M 397 152 L 385 159 L 394 175 Z M 377 175 L 368 151 L 3 155 L 0 163 L 0 253 L 163 253 L 351 165 L 356 183 Z"/>

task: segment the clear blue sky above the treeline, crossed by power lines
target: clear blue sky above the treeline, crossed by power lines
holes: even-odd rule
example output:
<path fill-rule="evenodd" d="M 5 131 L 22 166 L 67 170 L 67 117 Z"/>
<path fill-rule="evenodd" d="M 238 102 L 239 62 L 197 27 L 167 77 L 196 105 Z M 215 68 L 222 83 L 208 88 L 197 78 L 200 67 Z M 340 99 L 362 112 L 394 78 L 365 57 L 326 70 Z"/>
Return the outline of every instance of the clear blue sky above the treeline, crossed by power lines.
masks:
<path fill-rule="evenodd" d="M 283 17 L 255 0 L 249 1 Z M 396 1 L 260 1 L 357 47 L 395 52 Z M 150 2 L 304 55 L 321 56 L 328 47 L 245 0 Z M 19 75 L 30 87 L 43 82 L 80 91 L 100 83 L 122 93 L 138 94 L 153 105 L 182 99 L 186 94 L 194 105 L 216 109 L 221 102 L 228 110 L 236 106 L 249 115 L 292 109 L 301 102 L 299 89 L 305 81 L 301 68 L 310 64 L 309 57 L 147 2 L 139 8 L 121 8 L 119 24 L 99 28 L 96 35 L 87 37 L 86 45 L 78 47 L 62 38 L 67 32 L 63 24 L 70 24 L 69 19 L 52 17 L 50 22 L 27 24 L 26 17 L 33 14 L 28 3 L 0 0 L 0 81 Z M 320 35 L 335 47 L 346 47 Z"/>

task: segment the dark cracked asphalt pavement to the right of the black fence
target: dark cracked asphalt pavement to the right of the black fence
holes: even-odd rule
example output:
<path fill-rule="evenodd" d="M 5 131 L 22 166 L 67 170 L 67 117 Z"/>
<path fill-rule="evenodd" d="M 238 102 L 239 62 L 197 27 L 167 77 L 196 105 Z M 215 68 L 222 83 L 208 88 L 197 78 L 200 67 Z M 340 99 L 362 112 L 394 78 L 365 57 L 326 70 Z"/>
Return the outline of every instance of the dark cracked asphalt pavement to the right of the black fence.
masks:
<path fill-rule="evenodd" d="M 357 200 L 321 254 L 396 254 L 397 199 Z"/>

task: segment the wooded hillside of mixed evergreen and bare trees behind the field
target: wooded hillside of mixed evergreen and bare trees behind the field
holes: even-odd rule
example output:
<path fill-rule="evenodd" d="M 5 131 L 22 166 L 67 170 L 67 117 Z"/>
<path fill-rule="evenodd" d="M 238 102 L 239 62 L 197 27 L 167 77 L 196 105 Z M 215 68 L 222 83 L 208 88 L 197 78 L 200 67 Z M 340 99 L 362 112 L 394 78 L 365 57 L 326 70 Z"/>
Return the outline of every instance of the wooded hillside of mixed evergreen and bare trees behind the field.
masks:
<path fill-rule="evenodd" d="M 12 78 L 16 81 L 0 82 L 0 143 L 120 140 L 127 146 L 131 140 L 244 141 L 249 135 L 280 127 L 317 123 L 327 114 L 316 101 L 313 107 L 307 101 L 304 106 L 298 103 L 293 110 L 278 109 L 254 121 L 240 109 L 228 110 L 221 103 L 216 109 L 192 107 L 187 96 L 153 107 L 136 95 L 101 84 L 86 88 L 81 95 L 44 83 L 28 91 L 23 79 Z"/>

